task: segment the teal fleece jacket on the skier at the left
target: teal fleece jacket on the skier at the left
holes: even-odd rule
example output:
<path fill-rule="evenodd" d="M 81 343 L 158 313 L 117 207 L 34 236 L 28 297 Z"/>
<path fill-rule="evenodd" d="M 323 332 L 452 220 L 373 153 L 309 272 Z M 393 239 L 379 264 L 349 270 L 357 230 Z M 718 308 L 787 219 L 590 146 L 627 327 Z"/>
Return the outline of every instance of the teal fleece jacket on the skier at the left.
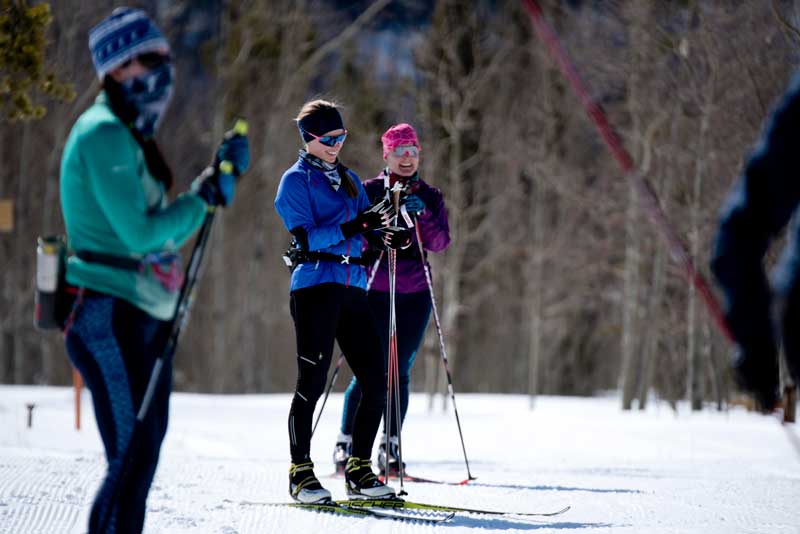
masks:
<path fill-rule="evenodd" d="M 169 203 L 144 153 L 101 92 L 75 122 L 61 159 L 61 209 L 70 250 L 141 258 L 175 250 L 200 226 L 205 202 L 182 194 Z M 177 293 L 143 273 L 70 257 L 67 282 L 124 299 L 166 320 Z"/>

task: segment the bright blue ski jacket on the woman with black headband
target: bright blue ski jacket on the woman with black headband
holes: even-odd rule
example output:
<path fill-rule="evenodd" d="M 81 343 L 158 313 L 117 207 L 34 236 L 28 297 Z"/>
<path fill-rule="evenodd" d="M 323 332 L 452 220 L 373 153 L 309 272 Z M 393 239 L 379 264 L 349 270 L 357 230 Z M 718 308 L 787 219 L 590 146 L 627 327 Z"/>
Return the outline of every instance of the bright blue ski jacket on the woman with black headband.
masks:
<path fill-rule="evenodd" d="M 308 250 L 361 257 L 360 235 L 345 239 L 339 227 L 355 219 L 370 203 L 361 180 L 347 171 L 358 188 L 350 197 L 344 187 L 335 190 L 325 174 L 302 157 L 281 177 L 275 210 L 290 232 L 302 228 L 308 235 Z M 366 290 L 366 270 L 360 265 L 320 261 L 303 263 L 292 273 L 291 291 L 325 283 Z"/>

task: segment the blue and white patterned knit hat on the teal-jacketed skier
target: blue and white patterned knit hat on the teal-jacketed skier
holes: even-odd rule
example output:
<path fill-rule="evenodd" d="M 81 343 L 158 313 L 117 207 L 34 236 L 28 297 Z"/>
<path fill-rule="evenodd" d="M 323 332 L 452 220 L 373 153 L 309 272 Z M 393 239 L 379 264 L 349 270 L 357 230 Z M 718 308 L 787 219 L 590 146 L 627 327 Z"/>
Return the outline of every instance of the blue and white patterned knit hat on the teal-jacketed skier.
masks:
<path fill-rule="evenodd" d="M 146 52 L 169 52 L 164 34 L 141 9 L 119 7 L 89 30 L 89 50 L 97 77 Z"/>

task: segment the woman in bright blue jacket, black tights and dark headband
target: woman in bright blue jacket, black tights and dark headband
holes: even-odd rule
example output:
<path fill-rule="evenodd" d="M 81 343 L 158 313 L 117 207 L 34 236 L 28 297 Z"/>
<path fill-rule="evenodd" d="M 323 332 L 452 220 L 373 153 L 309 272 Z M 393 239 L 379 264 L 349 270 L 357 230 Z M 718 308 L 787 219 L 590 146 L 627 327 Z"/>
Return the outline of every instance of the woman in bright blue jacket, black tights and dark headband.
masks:
<path fill-rule="evenodd" d="M 349 495 L 393 496 L 372 472 L 370 457 L 385 400 L 383 350 L 366 293 L 361 235 L 381 230 L 390 246 L 410 242 L 392 231 L 391 207 L 370 206 L 358 177 L 339 161 L 347 130 L 336 105 L 306 103 L 296 118 L 305 149 L 281 178 L 275 209 L 296 242 L 290 309 L 297 338 L 297 386 L 289 411 L 292 464 L 289 493 L 299 502 L 331 494 L 314 475 L 311 425 L 325 388 L 333 342 L 347 355 L 363 397 L 353 422 L 352 456 L 345 469 Z"/>

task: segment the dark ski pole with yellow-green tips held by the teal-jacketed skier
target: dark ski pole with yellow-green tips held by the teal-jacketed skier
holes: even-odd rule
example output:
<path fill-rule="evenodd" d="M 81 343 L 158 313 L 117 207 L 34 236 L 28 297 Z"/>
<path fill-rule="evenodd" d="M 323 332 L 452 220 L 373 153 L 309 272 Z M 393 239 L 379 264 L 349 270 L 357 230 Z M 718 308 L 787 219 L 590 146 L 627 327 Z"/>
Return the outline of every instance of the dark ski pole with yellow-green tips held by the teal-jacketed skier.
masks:
<path fill-rule="evenodd" d="M 231 132 L 229 132 L 227 135 L 247 135 L 247 130 L 247 122 L 243 119 L 239 119 L 236 121 L 233 130 L 231 130 Z M 219 170 L 230 174 L 234 171 L 233 164 L 230 161 L 222 161 L 219 164 Z M 189 265 L 186 266 L 184 282 L 181 286 L 180 294 L 178 295 L 175 313 L 170 320 L 170 335 L 167 339 L 166 345 L 164 346 L 164 350 L 161 352 L 161 355 L 156 358 L 156 361 L 153 364 L 153 369 L 150 372 L 150 378 L 147 382 L 147 388 L 145 389 L 144 397 L 142 398 L 142 404 L 139 407 L 139 411 L 136 414 L 136 420 L 133 424 L 131 438 L 128 442 L 128 447 L 125 449 L 123 454 L 122 467 L 120 469 L 119 478 L 114 485 L 111 502 L 106 508 L 106 514 L 100 519 L 100 532 L 106 531 L 108 522 L 111 520 L 111 514 L 115 508 L 114 503 L 119 499 L 119 493 L 130 469 L 130 463 L 133 454 L 135 453 L 136 444 L 140 439 L 139 435 L 141 434 L 141 428 L 144 423 L 144 419 L 150 410 L 150 405 L 153 401 L 153 395 L 155 394 L 156 387 L 161 378 L 161 371 L 165 365 L 168 365 L 172 362 L 175 352 L 178 350 L 178 341 L 180 340 L 181 333 L 189 321 L 189 311 L 192 303 L 194 302 L 195 288 L 197 286 L 197 281 L 200 279 L 200 268 L 203 264 L 203 258 L 208 246 L 208 240 L 211 236 L 211 229 L 214 225 L 215 215 L 215 207 L 208 206 L 206 215 L 203 219 L 203 224 L 200 226 L 197 240 L 192 248 Z"/>

